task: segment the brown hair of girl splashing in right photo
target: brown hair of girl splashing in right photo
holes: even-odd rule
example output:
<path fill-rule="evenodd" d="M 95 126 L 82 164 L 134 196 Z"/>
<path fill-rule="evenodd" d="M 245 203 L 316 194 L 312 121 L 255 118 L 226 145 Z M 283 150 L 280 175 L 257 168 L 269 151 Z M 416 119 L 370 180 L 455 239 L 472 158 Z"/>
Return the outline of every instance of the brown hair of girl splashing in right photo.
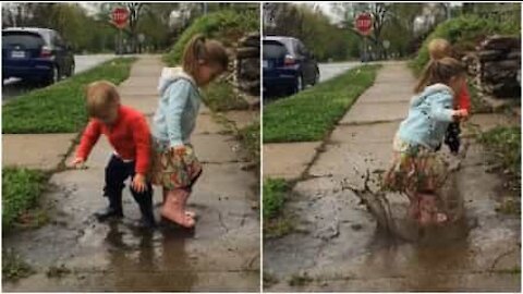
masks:
<path fill-rule="evenodd" d="M 453 58 L 441 58 L 438 60 L 430 60 L 414 88 L 415 93 L 422 93 L 426 86 L 434 84 L 448 85 L 450 79 L 454 76 L 465 74 L 465 66 Z"/>

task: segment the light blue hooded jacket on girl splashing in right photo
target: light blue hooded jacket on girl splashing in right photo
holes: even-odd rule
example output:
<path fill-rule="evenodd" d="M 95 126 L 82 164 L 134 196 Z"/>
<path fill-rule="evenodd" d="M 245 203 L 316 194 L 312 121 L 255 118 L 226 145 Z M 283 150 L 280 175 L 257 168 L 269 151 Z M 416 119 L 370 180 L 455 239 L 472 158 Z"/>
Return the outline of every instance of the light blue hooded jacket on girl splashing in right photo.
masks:
<path fill-rule="evenodd" d="M 453 121 L 453 90 L 445 84 L 426 87 L 411 100 L 409 117 L 401 122 L 398 136 L 410 144 L 435 150 Z"/>

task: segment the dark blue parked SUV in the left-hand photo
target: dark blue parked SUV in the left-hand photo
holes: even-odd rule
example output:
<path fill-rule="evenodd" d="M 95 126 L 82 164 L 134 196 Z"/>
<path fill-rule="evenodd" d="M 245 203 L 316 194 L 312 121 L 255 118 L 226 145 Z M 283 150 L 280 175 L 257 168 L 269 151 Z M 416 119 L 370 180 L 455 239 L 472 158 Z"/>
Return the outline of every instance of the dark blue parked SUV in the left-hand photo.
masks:
<path fill-rule="evenodd" d="M 48 28 L 2 29 L 2 79 L 56 83 L 74 73 L 71 47 L 58 32 Z"/>

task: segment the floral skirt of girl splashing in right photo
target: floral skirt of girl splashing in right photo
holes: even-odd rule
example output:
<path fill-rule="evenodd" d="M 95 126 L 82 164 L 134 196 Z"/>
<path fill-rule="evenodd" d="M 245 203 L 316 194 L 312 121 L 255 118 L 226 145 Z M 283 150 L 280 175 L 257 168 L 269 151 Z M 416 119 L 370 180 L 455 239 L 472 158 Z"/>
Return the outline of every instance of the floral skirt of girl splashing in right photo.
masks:
<path fill-rule="evenodd" d="M 438 152 L 394 137 L 392 163 L 385 174 L 384 188 L 408 195 L 435 193 L 443 186 L 447 175 L 448 163 Z"/>

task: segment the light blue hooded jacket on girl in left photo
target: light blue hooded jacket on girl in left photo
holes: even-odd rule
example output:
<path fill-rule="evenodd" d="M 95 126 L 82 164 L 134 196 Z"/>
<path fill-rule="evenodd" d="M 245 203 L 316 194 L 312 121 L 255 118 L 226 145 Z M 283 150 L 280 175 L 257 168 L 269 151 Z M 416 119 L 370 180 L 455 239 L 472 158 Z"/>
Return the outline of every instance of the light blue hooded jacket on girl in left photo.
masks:
<path fill-rule="evenodd" d="M 158 91 L 160 100 L 153 119 L 153 137 L 162 147 L 191 144 L 202 103 L 196 83 L 181 68 L 165 68 Z"/>

